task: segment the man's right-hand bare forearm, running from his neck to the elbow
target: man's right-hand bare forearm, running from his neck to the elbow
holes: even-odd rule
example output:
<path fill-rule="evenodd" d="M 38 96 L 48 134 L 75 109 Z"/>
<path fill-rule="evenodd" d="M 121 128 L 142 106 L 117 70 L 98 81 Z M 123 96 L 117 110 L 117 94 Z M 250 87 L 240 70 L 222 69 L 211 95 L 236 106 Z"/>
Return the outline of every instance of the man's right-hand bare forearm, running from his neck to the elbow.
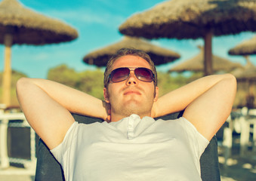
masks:
<path fill-rule="evenodd" d="M 160 97 L 153 105 L 154 115 L 159 117 L 184 110 L 193 100 L 196 100 L 197 97 L 214 87 L 218 82 L 232 78 L 233 75 L 230 74 L 209 75 L 173 90 Z"/>

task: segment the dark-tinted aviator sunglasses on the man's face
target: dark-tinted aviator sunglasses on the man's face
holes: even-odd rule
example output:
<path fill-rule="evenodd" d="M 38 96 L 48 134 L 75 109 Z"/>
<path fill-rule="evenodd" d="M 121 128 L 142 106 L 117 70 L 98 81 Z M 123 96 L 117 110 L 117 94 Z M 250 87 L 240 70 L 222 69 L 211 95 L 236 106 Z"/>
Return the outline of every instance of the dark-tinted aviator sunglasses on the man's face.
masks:
<path fill-rule="evenodd" d="M 146 82 L 155 81 L 155 75 L 153 74 L 152 70 L 144 67 L 137 67 L 137 68 L 121 67 L 118 69 L 114 69 L 109 74 L 109 80 L 114 83 L 119 81 L 125 81 L 130 76 L 131 70 L 134 71 L 136 78 L 140 81 L 146 81 Z"/>

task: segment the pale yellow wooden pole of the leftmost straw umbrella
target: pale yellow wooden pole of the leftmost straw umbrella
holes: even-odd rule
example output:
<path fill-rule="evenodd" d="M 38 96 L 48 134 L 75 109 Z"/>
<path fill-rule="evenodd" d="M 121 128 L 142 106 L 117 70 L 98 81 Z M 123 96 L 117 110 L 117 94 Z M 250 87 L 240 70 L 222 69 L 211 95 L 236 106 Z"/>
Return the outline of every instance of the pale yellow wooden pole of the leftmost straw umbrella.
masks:
<path fill-rule="evenodd" d="M 11 44 L 12 36 L 5 35 L 5 68 L 2 77 L 2 102 L 5 106 L 11 105 Z"/>

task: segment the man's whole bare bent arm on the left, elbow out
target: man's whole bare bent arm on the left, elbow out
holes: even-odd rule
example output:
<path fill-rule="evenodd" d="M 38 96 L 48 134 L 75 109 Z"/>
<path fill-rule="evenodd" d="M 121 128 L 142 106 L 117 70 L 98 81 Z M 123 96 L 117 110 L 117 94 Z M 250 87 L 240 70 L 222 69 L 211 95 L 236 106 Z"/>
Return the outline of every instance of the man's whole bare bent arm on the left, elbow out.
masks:
<path fill-rule="evenodd" d="M 17 98 L 27 121 L 54 149 L 65 137 L 74 122 L 70 112 L 103 118 L 106 104 L 82 91 L 54 81 L 40 78 L 20 78 L 17 81 Z"/>

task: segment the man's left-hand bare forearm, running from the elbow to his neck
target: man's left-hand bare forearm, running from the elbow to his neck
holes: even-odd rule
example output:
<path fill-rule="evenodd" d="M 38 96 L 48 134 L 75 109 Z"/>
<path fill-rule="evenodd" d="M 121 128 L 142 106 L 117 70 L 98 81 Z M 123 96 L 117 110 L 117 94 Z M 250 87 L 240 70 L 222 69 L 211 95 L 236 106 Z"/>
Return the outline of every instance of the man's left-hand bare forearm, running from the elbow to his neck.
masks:
<path fill-rule="evenodd" d="M 26 85 L 33 84 L 39 87 L 48 94 L 52 100 L 59 103 L 69 112 L 103 119 L 107 116 L 105 105 L 102 100 L 85 94 L 82 91 L 67 87 L 63 84 L 39 78 L 22 78 L 18 84 L 22 84 L 21 86 L 24 87 L 23 91 L 27 91 L 27 94 L 32 90 L 26 88 Z M 42 93 L 38 91 L 38 94 L 39 95 L 35 96 L 40 96 Z"/>

